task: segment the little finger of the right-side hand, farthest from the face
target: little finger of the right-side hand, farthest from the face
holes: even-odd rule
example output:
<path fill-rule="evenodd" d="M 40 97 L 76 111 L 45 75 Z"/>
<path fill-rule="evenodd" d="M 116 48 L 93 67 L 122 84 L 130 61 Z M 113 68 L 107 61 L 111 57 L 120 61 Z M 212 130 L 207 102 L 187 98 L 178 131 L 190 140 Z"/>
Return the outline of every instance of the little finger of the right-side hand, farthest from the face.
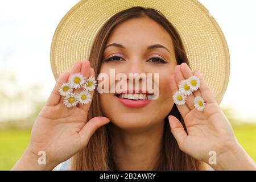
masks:
<path fill-rule="evenodd" d="M 200 90 L 200 94 L 204 98 L 205 102 L 207 102 L 208 104 L 210 104 L 210 103 L 216 104 L 217 102 L 216 102 L 216 100 L 215 100 L 215 98 L 213 96 L 213 93 L 210 90 L 210 88 L 207 85 L 207 83 L 205 82 L 205 80 L 204 80 L 203 76 L 201 75 L 200 71 L 198 71 L 198 70 L 195 71 L 194 75 L 196 77 L 198 77 L 199 80 L 200 80 L 200 88 L 199 88 L 199 90 Z"/>

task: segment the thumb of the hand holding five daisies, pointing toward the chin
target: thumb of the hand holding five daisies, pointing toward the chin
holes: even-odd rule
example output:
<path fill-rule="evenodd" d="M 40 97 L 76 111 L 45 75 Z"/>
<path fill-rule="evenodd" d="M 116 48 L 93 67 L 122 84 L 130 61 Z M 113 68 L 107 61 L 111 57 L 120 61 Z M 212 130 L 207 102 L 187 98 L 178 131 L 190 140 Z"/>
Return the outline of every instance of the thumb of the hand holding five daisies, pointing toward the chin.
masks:
<path fill-rule="evenodd" d="M 86 146 L 94 132 L 107 123 L 109 123 L 109 119 L 106 117 L 94 117 L 90 119 L 79 132 L 82 145 Z"/>

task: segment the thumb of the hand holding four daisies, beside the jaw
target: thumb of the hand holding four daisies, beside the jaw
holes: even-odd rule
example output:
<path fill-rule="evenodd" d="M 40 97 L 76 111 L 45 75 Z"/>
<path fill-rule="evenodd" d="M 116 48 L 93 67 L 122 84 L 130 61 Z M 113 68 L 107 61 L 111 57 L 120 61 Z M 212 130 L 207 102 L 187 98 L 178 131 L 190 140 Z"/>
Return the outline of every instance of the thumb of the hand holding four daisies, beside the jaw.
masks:
<path fill-rule="evenodd" d="M 185 132 L 179 119 L 177 119 L 173 115 L 169 115 L 168 119 L 169 119 L 169 123 L 170 123 L 170 127 L 171 127 L 171 132 L 174 135 L 174 137 L 177 141 L 177 144 L 179 145 L 180 150 L 181 150 L 181 148 L 183 148 L 183 141 L 188 136 L 188 134 Z"/>

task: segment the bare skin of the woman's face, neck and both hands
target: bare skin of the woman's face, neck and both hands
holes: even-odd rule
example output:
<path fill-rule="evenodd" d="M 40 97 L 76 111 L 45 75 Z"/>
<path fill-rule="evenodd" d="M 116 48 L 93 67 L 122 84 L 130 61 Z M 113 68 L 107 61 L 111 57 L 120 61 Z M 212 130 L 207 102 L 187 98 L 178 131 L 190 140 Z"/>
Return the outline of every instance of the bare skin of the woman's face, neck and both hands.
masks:
<path fill-rule="evenodd" d="M 104 59 L 116 55 L 122 60 L 102 63 L 100 72 L 109 74 L 110 68 L 115 68 L 117 72 L 124 73 L 159 73 L 158 100 L 138 112 L 122 106 L 114 94 L 101 94 L 102 108 L 108 118 L 96 117 L 87 121 L 89 104 L 68 109 L 57 92 L 60 85 L 68 80 L 70 73 L 81 72 L 86 77 L 94 76 L 89 61 L 77 61 L 71 72 L 63 73 L 56 82 L 46 106 L 35 121 L 30 144 L 13 170 L 53 169 L 85 147 L 94 131 L 109 120 L 114 124 L 114 151 L 118 168 L 152 169 L 159 156 L 163 119 L 174 105 L 172 95 L 177 91 L 179 81 L 191 75 L 200 78 L 201 87 L 188 96 L 185 105 L 177 106 L 188 133 L 185 133 L 177 118 L 169 117 L 170 132 L 174 134 L 180 149 L 205 163 L 208 163 L 209 151 L 215 151 L 217 164 L 211 166 L 216 170 L 256 169 L 254 161 L 237 142 L 228 119 L 214 100 L 200 72 L 192 72 L 185 63 L 176 64 L 172 40 L 163 28 L 150 19 L 132 19 L 115 28 L 107 44 L 114 42 L 122 44 L 126 49 L 109 47 L 104 51 Z M 164 45 L 170 52 L 163 48 L 146 51 L 147 46 L 155 43 Z M 155 56 L 165 59 L 167 63 L 149 61 Z M 193 107 L 195 96 L 202 96 L 206 101 L 204 111 L 197 111 Z M 46 165 L 37 163 L 37 154 L 42 150 L 46 151 Z"/>

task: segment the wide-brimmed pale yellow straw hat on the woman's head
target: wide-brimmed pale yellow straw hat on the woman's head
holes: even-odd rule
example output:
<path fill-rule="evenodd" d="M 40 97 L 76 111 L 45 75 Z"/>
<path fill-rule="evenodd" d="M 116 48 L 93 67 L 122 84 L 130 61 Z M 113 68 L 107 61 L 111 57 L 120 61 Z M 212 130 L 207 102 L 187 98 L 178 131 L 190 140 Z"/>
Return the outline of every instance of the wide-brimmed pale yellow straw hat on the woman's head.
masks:
<path fill-rule="evenodd" d="M 55 80 L 69 72 L 76 60 L 89 58 L 100 27 L 119 11 L 134 6 L 159 10 L 183 41 L 192 71 L 199 69 L 218 104 L 226 91 L 230 63 L 228 45 L 212 15 L 196 0 L 84 0 L 61 19 L 51 45 Z"/>

